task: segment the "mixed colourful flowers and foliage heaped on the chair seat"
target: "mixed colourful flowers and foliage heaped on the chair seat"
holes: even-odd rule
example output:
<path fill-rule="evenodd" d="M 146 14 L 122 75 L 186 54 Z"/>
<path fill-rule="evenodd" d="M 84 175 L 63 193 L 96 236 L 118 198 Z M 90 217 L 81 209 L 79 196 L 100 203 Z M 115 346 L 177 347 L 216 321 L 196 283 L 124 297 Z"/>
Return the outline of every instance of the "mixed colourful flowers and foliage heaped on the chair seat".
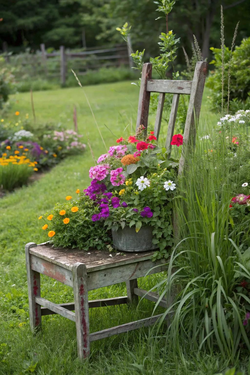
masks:
<path fill-rule="evenodd" d="M 140 126 L 136 135 L 118 138 L 118 145 L 91 166 L 92 181 L 83 192 L 76 190 L 78 201 L 67 195 L 66 204 L 58 203 L 46 214 L 45 230 L 54 231 L 55 246 L 101 249 L 111 242 L 111 229 L 129 226 L 136 234 L 151 226 L 153 246 L 159 249 L 153 258 L 168 256 L 178 160 L 168 160 L 169 151 L 158 147 L 154 132 L 144 138 L 144 131 Z"/>

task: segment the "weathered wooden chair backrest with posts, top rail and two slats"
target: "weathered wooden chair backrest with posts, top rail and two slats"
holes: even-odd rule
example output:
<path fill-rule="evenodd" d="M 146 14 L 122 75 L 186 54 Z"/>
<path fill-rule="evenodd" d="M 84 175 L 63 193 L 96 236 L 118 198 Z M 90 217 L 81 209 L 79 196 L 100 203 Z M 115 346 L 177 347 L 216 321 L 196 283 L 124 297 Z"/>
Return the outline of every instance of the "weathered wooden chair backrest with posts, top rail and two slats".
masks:
<path fill-rule="evenodd" d="M 138 104 L 138 114 L 136 121 L 136 129 L 142 124 L 145 126 L 145 133 L 147 132 L 148 126 L 148 112 L 149 112 L 149 102 L 150 93 L 159 93 L 159 101 L 156 112 L 156 120 L 154 124 L 154 134 L 157 139 L 160 133 L 160 126 L 162 122 L 162 112 L 165 100 L 165 94 L 170 93 L 173 95 L 171 113 L 168 123 L 168 133 L 166 137 L 166 149 L 169 150 L 168 158 L 171 156 L 171 140 L 174 135 L 175 120 L 177 115 L 177 109 L 179 104 L 179 99 L 181 94 L 190 95 L 189 107 L 187 110 L 186 123 L 183 134 L 183 144 L 179 174 L 183 172 L 185 164 L 185 149 L 186 146 L 195 146 L 196 137 L 196 122 L 199 121 L 199 114 L 201 110 L 201 101 L 205 85 L 205 78 L 207 75 L 207 62 L 197 62 L 195 67 L 195 73 L 193 76 L 193 81 L 177 81 L 177 80 L 152 80 L 152 64 L 145 63 L 142 68 L 141 77 L 141 88 L 139 93 L 139 104 Z"/>

